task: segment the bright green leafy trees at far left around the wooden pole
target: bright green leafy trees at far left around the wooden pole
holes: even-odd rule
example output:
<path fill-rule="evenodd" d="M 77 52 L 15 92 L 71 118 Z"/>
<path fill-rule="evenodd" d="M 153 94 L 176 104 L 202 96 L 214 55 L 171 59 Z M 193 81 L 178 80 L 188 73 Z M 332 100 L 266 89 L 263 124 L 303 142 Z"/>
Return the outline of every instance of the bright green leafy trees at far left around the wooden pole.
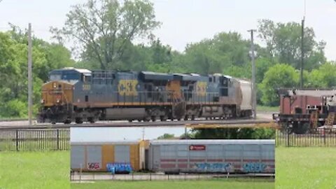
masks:
<path fill-rule="evenodd" d="M 0 117 L 27 115 L 27 35 L 11 25 L 12 30 L 0 32 Z M 33 102 L 36 113 L 41 99 L 41 86 L 48 72 L 71 66 L 69 50 L 33 37 Z"/>

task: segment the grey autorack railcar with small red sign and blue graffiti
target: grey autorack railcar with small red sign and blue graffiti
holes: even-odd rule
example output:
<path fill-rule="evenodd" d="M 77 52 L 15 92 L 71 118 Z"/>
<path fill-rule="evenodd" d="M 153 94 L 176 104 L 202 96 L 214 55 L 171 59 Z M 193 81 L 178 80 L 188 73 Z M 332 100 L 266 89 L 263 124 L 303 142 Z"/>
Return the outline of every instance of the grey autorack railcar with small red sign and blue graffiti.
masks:
<path fill-rule="evenodd" d="M 148 169 L 165 173 L 274 174 L 274 140 L 153 140 Z"/>

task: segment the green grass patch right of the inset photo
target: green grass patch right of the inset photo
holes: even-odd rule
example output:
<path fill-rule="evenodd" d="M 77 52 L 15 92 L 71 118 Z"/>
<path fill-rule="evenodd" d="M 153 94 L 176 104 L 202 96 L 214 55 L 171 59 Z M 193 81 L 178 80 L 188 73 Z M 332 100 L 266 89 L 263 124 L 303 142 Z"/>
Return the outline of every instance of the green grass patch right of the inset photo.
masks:
<path fill-rule="evenodd" d="M 336 188 L 336 148 L 276 148 L 276 189 Z"/>

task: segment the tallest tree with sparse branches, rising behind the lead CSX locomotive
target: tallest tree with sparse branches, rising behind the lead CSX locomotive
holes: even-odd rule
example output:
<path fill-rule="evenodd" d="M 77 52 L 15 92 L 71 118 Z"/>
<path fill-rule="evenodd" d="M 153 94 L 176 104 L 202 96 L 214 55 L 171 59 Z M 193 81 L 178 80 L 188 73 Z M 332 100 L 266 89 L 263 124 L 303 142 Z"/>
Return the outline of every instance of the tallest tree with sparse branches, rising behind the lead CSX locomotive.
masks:
<path fill-rule="evenodd" d="M 159 25 L 153 3 L 147 0 L 87 0 L 72 7 L 62 29 L 51 31 L 59 39 L 74 38 L 83 59 L 94 59 L 101 69 L 120 69 L 131 41 L 153 38 Z"/>

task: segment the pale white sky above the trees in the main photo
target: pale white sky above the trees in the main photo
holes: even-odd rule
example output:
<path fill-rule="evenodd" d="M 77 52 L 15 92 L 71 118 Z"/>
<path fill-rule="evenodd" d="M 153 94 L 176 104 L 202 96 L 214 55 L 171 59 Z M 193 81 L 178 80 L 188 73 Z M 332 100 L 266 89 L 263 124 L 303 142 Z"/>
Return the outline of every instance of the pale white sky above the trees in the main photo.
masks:
<path fill-rule="evenodd" d="M 1 0 L 0 0 L 1 1 Z M 8 22 L 27 28 L 31 22 L 34 35 L 50 41 L 49 28 L 62 27 L 71 5 L 85 0 L 2 0 L 0 31 Z M 301 22 L 313 27 L 316 39 L 326 41 L 325 55 L 336 60 L 335 0 L 153 0 L 156 19 L 162 22 L 154 31 L 162 43 L 183 51 L 188 43 L 212 38 L 222 31 L 237 31 L 249 38 L 248 29 L 256 29 L 258 20 Z M 306 11 L 304 11 L 304 9 Z M 260 43 L 258 39 L 256 43 Z"/>

